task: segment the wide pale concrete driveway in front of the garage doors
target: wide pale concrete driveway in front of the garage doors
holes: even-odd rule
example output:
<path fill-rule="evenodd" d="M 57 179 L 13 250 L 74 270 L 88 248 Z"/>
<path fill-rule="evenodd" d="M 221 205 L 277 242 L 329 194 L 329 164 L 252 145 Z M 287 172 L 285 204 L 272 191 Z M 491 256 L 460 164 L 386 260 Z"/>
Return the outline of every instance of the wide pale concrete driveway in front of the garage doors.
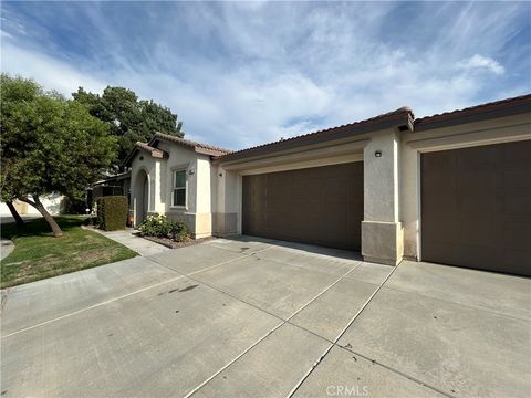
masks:
<path fill-rule="evenodd" d="M 528 397 L 531 282 L 240 238 L 3 292 L 7 397 Z"/>

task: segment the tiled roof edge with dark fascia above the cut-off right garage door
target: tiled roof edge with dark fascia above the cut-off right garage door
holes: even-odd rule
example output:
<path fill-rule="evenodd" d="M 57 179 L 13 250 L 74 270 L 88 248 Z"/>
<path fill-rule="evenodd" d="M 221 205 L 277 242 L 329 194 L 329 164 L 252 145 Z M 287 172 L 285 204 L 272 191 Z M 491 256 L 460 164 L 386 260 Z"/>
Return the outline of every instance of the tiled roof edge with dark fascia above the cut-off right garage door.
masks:
<path fill-rule="evenodd" d="M 452 126 L 531 112 L 531 94 L 415 119 L 415 130 Z"/>

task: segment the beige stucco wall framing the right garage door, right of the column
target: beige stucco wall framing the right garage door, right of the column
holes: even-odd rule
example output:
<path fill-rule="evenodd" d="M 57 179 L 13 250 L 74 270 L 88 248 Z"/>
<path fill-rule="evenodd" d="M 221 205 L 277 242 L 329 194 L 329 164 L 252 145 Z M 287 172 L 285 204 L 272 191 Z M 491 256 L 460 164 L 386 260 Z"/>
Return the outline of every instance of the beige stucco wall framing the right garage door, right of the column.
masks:
<path fill-rule="evenodd" d="M 418 133 L 403 133 L 399 171 L 404 256 L 421 259 L 420 154 L 520 139 L 531 139 L 529 114 Z"/>

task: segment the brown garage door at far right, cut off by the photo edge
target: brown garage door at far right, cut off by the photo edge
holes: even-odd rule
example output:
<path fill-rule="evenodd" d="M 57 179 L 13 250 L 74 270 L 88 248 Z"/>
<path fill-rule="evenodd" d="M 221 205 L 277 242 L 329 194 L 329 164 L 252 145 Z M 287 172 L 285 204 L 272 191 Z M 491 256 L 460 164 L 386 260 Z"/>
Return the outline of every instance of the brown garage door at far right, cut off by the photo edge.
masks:
<path fill-rule="evenodd" d="M 421 155 L 423 260 L 531 275 L 531 140 Z"/>

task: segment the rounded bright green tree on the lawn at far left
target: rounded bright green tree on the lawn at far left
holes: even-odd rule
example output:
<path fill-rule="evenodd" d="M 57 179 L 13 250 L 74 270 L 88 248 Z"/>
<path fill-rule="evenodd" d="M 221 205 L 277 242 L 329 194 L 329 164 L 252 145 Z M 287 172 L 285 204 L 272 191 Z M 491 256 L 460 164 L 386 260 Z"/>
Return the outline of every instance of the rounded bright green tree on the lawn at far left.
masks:
<path fill-rule="evenodd" d="M 116 139 L 85 105 L 31 80 L 2 74 L 0 100 L 1 199 L 33 206 L 60 237 L 41 198 L 52 192 L 81 198 L 115 158 Z"/>

